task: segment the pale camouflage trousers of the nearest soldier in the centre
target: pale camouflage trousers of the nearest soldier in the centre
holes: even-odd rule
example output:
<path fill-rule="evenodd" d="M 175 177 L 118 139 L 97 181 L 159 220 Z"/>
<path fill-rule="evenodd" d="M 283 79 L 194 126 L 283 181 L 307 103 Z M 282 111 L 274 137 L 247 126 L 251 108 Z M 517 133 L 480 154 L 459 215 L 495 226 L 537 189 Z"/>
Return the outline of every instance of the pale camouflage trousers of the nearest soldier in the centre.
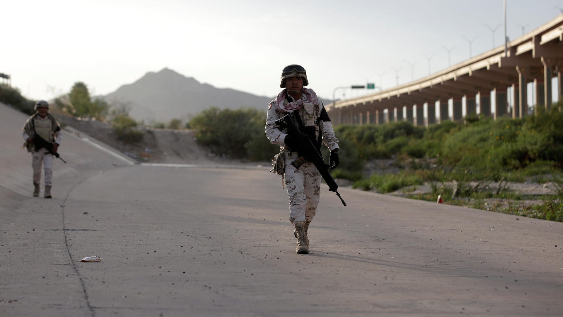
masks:
<path fill-rule="evenodd" d="M 285 186 L 289 197 L 289 221 L 312 220 L 320 200 L 320 173 L 313 163 L 295 168 L 294 158 L 285 159 Z"/>

